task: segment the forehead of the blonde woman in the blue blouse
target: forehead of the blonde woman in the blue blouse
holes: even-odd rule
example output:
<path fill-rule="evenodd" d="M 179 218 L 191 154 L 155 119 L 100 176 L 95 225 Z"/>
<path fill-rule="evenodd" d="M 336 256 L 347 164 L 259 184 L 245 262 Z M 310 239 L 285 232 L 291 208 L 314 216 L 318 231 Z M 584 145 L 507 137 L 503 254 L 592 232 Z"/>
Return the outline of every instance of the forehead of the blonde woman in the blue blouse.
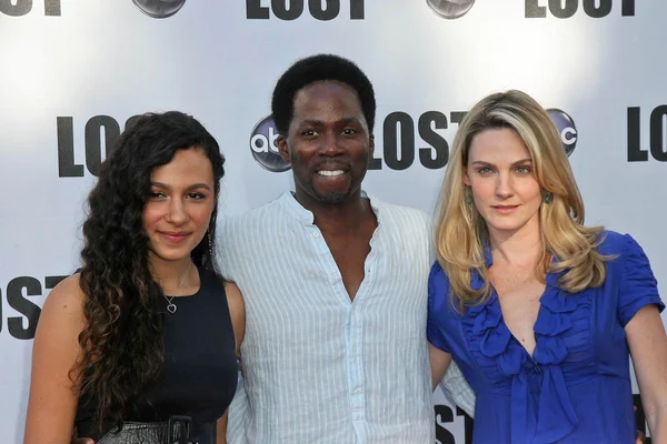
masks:
<path fill-rule="evenodd" d="M 511 129 L 490 129 L 476 134 L 470 141 L 469 162 L 512 163 L 531 159 L 521 137 Z"/>

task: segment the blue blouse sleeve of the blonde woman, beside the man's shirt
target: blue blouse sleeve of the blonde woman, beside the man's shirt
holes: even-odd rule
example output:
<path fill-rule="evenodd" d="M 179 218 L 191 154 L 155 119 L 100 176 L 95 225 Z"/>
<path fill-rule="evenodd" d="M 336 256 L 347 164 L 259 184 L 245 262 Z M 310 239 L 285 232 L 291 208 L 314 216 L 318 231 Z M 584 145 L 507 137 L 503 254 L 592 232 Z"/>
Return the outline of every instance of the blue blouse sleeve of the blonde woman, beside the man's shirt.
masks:
<path fill-rule="evenodd" d="M 428 321 L 426 337 L 434 346 L 444 352 L 451 353 L 442 334 L 444 320 L 449 306 L 449 280 L 440 264 L 436 262 L 428 276 Z"/>

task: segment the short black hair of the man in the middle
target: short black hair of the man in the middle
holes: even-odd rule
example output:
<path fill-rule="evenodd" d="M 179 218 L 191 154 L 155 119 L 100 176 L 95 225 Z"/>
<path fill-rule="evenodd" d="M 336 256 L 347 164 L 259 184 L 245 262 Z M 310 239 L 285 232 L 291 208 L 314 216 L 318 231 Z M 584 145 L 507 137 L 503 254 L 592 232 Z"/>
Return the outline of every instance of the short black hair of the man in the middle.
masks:
<path fill-rule="evenodd" d="M 287 137 L 295 114 L 297 92 L 323 80 L 345 83 L 357 92 L 368 130 L 372 133 L 376 113 L 372 84 L 355 62 L 335 54 L 317 54 L 300 59 L 278 79 L 271 99 L 271 114 L 278 133 Z"/>

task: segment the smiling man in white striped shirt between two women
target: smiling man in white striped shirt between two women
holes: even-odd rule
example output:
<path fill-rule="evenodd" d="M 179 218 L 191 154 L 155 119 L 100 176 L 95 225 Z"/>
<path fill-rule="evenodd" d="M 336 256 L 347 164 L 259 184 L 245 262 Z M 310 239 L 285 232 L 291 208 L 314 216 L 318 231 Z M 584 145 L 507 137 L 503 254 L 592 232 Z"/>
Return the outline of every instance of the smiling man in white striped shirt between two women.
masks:
<path fill-rule="evenodd" d="M 349 60 L 315 56 L 282 74 L 271 108 L 295 192 L 220 226 L 247 320 L 228 442 L 432 444 L 430 224 L 361 190 L 372 85 Z M 471 412 L 457 369 L 446 382 Z"/>

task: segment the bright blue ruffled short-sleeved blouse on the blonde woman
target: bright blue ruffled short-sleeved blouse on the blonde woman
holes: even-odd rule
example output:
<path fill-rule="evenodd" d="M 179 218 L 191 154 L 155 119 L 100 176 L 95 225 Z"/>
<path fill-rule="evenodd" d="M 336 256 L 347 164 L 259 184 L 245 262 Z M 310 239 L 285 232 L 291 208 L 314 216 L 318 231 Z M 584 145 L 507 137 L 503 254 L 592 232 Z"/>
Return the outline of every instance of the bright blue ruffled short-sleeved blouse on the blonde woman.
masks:
<path fill-rule="evenodd" d="M 645 305 L 665 307 L 646 254 L 629 235 L 603 233 L 605 283 L 566 295 L 548 274 L 532 356 L 502 320 L 498 296 L 460 314 L 438 263 L 429 276 L 428 340 L 451 353 L 477 395 L 476 443 L 634 443 L 624 327 Z M 487 265 L 490 266 L 490 254 Z M 480 287 L 477 272 L 471 284 Z"/>

